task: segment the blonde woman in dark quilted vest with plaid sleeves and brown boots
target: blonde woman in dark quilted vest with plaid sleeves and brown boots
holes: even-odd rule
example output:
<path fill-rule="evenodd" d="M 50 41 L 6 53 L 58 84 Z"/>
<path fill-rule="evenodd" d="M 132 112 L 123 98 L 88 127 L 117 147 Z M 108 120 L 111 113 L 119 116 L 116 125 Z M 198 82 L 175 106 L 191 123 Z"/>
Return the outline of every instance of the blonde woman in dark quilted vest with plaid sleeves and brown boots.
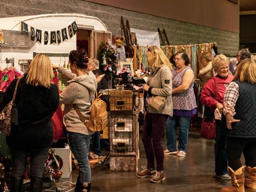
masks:
<path fill-rule="evenodd" d="M 222 192 L 256 191 L 256 63 L 240 62 L 223 101 L 222 132 L 227 135 L 228 169 L 232 185 Z M 226 125 L 226 126 L 225 126 Z M 244 154 L 245 166 L 241 164 Z M 245 179 L 244 179 L 245 172 Z"/>

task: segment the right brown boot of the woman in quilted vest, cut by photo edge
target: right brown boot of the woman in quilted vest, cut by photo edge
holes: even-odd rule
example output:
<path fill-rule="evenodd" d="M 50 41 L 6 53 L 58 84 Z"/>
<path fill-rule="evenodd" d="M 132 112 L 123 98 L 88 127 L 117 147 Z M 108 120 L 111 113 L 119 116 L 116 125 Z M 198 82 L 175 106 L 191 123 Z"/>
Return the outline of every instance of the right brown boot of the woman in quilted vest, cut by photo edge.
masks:
<path fill-rule="evenodd" d="M 256 191 L 256 167 L 245 167 L 244 188 L 249 191 Z"/>

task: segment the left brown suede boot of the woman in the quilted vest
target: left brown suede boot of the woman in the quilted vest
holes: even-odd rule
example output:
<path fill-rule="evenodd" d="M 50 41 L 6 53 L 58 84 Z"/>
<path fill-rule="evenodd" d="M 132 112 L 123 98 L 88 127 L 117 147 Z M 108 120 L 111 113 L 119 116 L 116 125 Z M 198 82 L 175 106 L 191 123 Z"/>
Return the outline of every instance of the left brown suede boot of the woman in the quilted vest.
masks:
<path fill-rule="evenodd" d="M 228 167 L 231 172 L 231 182 L 233 186 L 224 187 L 221 192 L 245 192 L 244 191 L 244 166 L 237 169 L 235 172 L 231 167 Z"/>

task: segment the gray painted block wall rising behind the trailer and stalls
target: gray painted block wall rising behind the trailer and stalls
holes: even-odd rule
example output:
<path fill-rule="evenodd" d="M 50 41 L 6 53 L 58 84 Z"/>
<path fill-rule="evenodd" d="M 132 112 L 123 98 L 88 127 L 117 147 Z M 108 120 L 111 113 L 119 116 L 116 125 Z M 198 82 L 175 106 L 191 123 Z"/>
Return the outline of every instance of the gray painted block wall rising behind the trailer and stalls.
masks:
<path fill-rule="evenodd" d="M 218 42 L 218 51 L 236 55 L 239 48 L 239 33 L 180 22 L 178 20 L 128 11 L 115 7 L 80 0 L 0 0 L 0 17 L 37 15 L 47 13 L 83 13 L 96 16 L 112 32 L 120 36 L 120 17 L 129 20 L 131 28 L 157 31 L 165 29 L 171 45 L 188 45 Z M 1 29 L 1 26 L 0 26 Z"/>

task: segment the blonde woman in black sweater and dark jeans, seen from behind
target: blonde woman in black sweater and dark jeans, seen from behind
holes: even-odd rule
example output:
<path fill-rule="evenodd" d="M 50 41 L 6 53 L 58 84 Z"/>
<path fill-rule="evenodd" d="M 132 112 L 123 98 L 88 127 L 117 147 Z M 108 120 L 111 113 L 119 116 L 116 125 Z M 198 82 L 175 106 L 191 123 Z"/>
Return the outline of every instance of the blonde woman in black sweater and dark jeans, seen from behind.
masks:
<path fill-rule="evenodd" d="M 53 69 L 46 54 L 37 54 L 20 77 L 14 103 L 18 124 L 11 126 L 7 144 L 12 156 L 11 191 L 22 191 L 27 156 L 30 154 L 30 191 L 42 191 L 46 155 L 53 142 L 51 117 L 59 103 L 58 88 L 52 83 Z M 0 111 L 12 100 L 17 79 L 5 92 Z"/>

